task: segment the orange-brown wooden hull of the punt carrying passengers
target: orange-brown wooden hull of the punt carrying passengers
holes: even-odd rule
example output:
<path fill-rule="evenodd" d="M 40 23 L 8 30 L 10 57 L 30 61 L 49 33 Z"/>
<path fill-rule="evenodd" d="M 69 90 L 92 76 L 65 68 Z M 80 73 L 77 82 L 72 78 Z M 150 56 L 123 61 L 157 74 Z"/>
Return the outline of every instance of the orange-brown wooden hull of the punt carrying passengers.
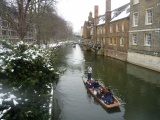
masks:
<path fill-rule="evenodd" d="M 82 78 L 83 78 L 83 82 L 84 82 L 84 85 L 85 85 L 85 87 L 87 88 L 87 90 L 91 93 L 91 95 L 92 95 L 104 108 L 114 108 L 114 107 L 119 107 L 119 106 L 121 105 L 120 102 L 118 101 L 118 99 L 117 99 L 114 95 L 112 96 L 113 102 L 112 102 L 112 103 L 106 103 L 105 100 L 102 99 L 102 97 L 97 94 L 97 89 L 88 87 L 88 85 L 87 85 L 87 82 L 88 82 L 88 81 L 87 81 L 87 78 L 85 78 L 85 77 L 82 77 Z M 92 79 L 91 81 L 95 81 L 95 80 Z M 104 86 L 102 86 L 102 85 L 100 85 L 100 84 L 99 84 L 99 87 L 100 87 L 102 90 L 106 90 L 106 89 L 107 89 L 106 87 L 104 87 Z M 95 93 L 96 93 L 96 94 L 95 94 Z"/>

